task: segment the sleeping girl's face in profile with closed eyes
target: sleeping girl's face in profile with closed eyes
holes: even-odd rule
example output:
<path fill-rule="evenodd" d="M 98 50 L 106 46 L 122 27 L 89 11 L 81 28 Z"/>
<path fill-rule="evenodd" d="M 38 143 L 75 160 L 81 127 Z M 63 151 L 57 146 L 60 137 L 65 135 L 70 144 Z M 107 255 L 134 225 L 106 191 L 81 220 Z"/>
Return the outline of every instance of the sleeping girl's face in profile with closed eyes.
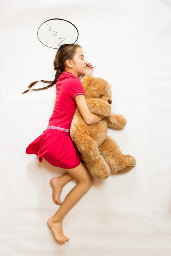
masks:
<path fill-rule="evenodd" d="M 84 75 L 86 72 L 86 64 L 84 60 L 84 53 L 80 47 L 76 48 L 76 53 L 71 60 L 71 72 L 76 76 Z"/>

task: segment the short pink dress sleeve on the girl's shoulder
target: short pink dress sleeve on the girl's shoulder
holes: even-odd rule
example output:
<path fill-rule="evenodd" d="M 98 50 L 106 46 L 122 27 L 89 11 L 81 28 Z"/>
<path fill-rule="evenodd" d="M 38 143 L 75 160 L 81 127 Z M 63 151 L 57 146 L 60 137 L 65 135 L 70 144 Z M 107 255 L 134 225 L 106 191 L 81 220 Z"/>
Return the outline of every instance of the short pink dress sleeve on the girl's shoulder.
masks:
<path fill-rule="evenodd" d="M 67 84 L 67 92 L 73 100 L 78 94 L 85 96 L 84 88 L 79 79 L 71 79 Z"/>

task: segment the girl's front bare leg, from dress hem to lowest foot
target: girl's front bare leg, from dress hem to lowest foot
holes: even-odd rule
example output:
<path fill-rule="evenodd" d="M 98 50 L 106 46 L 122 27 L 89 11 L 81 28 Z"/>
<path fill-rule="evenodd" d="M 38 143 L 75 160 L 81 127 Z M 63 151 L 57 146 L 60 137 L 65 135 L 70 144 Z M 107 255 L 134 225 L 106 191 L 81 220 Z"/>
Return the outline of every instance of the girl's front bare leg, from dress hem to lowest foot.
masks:
<path fill-rule="evenodd" d="M 73 187 L 73 189 L 71 189 L 71 191 L 69 191 L 58 211 L 47 221 L 54 237 L 60 243 L 65 243 L 65 241 L 69 240 L 67 236 L 64 236 L 62 230 L 62 220 L 64 216 L 80 200 L 80 198 L 82 198 L 93 184 L 93 177 L 82 162 L 80 162 L 79 166 L 76 168 L 67 169 L 66 171 L 76 179 L 78 183 Z"/>

